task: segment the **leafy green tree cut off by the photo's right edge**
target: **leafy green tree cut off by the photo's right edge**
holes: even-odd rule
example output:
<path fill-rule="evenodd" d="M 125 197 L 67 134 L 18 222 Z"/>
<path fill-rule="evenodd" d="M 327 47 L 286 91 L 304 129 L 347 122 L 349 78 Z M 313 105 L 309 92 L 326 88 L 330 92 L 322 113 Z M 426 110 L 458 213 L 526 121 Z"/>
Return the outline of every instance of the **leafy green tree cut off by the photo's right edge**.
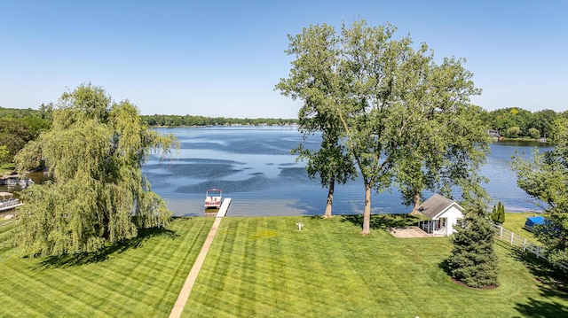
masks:
<path fill-rule="evenodd" d="M 556 146 L 552 151 L 533 151 L 525 159 L 517 154 L 512 161 L 517 184 L 544 208 L 548 224 L 536 231 L 553 264 L 568 264 L 568 117 L 564 113 L 553 129 Z"/>

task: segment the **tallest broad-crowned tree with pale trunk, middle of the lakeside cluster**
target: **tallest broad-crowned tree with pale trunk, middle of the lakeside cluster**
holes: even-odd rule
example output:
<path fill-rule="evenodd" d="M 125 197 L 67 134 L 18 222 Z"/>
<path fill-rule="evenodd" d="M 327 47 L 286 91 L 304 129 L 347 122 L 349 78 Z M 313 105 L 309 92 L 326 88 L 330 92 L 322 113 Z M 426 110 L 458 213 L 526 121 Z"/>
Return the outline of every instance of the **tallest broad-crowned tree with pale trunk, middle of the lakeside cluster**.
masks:
<path fill-rule="evenodd" d="M 448 160 L 457 170 L 468 159 L 456 151 L 467 130 L 461 127 L 464 136 L 453 146 L 442 146 L 447 140 L 438 138 L 436 129 L 456 121 L 454 110 L 472 112 L 460 107 L 477 93 L 469 73 L 454 58 L 436 66 L 425 44 L 414 50 L 410 37 L 395 38 L 395 31 L 391 25 L 370 27 L 364 20 L 343 25 L 341 35 L 325 25 L 308 27 L 290 37 L 294 50 L 288 53 L 296 60 L 288 80 L 280 81 L 287 84 L 286 94 L 303 99 L 303 109 L 310 110 L 300 112 L 300 120 L 325 122 L 329 132 L 337 132 L 323 136 L 339 136 L 333 144 L 349 151 L 343 159 L 352 160 L 364 183 L 363 234 L 370 231 L 372 191 L 388 190 L 398 176 L 397 184 L 414 196 L 438 181 L 440 175 L 421 175 L 427 150 L 436 153 L 429 163 L 436 174 Z M 446 110 L 452 114 L 445 115 Z M 429 123 L 434 118 L 438 125 Z M 416 176 L 423 180 L 411 182 Z"/>

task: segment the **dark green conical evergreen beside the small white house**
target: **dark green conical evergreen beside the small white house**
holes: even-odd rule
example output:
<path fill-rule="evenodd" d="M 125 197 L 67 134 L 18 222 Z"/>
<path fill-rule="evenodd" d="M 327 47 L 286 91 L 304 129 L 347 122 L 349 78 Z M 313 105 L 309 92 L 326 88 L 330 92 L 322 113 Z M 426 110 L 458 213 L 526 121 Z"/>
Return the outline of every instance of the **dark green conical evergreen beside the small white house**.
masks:
<path fill-rule="evenodd" d="M 493 249 L 493 227 L 487 221 L 485 205 L 470 204 L 452 235 L 454 248 L 447 260 L 452 277 L 470 287 L 498 286 L 498 259 Z"/>

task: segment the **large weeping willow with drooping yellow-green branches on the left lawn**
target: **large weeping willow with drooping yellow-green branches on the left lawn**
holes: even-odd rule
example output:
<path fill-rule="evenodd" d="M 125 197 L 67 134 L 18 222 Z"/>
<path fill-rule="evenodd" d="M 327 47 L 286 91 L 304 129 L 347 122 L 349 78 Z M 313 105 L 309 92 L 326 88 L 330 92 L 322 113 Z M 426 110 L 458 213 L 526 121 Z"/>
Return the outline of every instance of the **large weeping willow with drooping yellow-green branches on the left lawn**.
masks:
<path fill-rule="evenodd" d="M 168 224 L 171 213 L 141 167 L 154 151 L 170 154 L 174 136 L 148 128 L 135 105 L 91 84 L 65 92 L 52 117 L 51 129 L 15 158 L 20 171 L 43 161 L 51 176 L 22 191 L 15 241 L 24 254 L 96 252 Z"/>

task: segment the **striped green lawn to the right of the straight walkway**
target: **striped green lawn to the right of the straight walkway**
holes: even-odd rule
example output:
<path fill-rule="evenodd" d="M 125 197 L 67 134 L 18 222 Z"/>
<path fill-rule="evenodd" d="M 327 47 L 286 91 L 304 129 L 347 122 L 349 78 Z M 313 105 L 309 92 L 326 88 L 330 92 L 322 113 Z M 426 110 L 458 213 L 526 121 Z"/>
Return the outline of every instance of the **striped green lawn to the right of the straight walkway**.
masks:
<path fill-rule="evenodd" d="M 395 238 L 376 229 L 381 222 L 361 237 L 359 221 L 225 218 L 184 316 L 568 315 L 568 294 L 558 291 L 564 285 L 507 244 L 496 244 L 501 286 L 473 290 L 453 283 L 441 266 L 451 251 L 447 238 Z"/>

